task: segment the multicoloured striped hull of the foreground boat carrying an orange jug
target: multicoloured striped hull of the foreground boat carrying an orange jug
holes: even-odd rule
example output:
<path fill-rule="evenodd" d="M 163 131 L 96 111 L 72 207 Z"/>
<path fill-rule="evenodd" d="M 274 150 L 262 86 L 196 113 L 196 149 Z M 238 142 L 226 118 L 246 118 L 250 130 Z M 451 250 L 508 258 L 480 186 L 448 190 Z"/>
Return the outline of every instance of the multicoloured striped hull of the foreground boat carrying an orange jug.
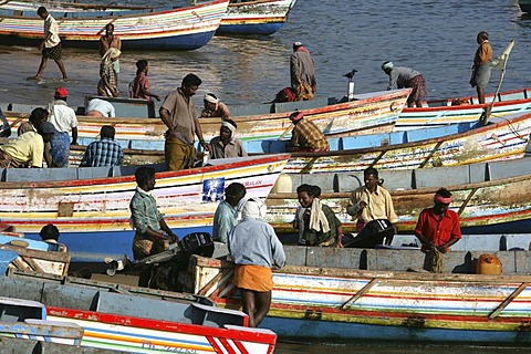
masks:
<path fill-rule="evenodd" d="M 280 340 L 531 343 L 524 330 L 531 321 L 529 275 L 353 270 L 356 259 L 347 250 L 298 249 L 310 263 L 315 251 L 320 260 L 341 256 L 348 268 L 295 264 L 273 271 L 271 309 L 261 326 L 274 329 Z M 220 306 L 240 306 L 232 263 L 195 257 L 190 269 L 195 293 Z"/>

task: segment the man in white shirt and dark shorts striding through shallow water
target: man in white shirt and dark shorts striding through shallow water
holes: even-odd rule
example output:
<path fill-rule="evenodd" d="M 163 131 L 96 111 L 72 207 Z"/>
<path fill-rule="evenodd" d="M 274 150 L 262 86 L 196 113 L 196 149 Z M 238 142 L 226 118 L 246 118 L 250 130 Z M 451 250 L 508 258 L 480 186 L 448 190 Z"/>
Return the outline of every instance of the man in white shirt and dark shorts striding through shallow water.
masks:
<path fill-rule="evenodd" d="M 48 60 L 53 59 L 58 64 L 63 81 L 69 81 L 66 70 L 62 61 L 63 49 L 61 46 L 61 39 L 59 38 L 59 24 L 55 19 L 48 13 L 46 8 L 40 7 L 37 9 L 37 14 L 44 20 L 44 40 L 39 44 L 39 50 L 42 51 L 41 64 L 37 71 L 35 76 L 29 77 L 33 80 L 41 80 L 42 73 L 46 67 Z"/>

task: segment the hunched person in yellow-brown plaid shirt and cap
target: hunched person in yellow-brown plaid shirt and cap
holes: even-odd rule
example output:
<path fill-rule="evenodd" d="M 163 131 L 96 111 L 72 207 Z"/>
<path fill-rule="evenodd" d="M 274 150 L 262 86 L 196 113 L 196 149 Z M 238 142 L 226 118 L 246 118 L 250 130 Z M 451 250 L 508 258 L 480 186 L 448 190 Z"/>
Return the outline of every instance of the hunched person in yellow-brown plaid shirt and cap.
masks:
<path fill-rule="evenodd" d="M 290 121 L 294 127 L 287 147 L 289 152 L 327 152 L 330 149 L 323 132 L 312 121 L 304 119 L 302 112 L 295 111 L 290 114 Z"/>

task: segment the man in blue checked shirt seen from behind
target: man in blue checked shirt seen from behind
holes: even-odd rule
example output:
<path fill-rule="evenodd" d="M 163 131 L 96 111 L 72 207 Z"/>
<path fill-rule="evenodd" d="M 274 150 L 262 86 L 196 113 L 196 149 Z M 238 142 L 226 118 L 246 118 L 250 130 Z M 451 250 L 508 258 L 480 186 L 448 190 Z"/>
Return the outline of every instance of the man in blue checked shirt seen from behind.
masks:
<path fill-rule="evenodd" d="M 101 139 L 86 147 L 80 167 L 121 166 L 124 162 L 124 149 L 114 140 L 116 131 L 104 125 L 100 131 Z"/>

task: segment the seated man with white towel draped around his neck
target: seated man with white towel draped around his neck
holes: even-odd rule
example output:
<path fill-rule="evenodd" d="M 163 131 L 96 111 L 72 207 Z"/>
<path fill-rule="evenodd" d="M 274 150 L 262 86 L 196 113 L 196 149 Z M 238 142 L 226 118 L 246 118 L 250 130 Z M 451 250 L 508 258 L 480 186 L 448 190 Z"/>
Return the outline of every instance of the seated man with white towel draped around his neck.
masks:
<path fill-rule="evenodd" d="M 293 227 L 299 230 L 299 243 L 305 246 L 326 247 L 341 244 L 343 227 L 335 212 L 317 197 L 321 188 L 306 184 L 296 188 L 301 208 L 298 209 Z"/>

